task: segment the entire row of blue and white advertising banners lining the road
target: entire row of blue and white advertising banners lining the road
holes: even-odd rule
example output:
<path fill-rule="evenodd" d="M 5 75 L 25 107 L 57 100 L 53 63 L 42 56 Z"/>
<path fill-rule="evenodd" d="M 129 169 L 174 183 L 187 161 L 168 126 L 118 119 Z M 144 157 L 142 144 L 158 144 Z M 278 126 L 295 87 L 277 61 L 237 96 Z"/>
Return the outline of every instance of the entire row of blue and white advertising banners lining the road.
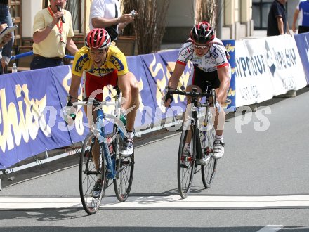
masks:
<path fill-rule="evenodd" d="M 303 67 L 308 73 L 308 44 L 304 45 L 303 39 L 307 41 L 307 35 L 296 37 L 297 46 L 302 49 L 297 49 L 294 37 L 290 36 L 224 41 L 232 70 L 225 110 L 234 111 L 236 107 L 306 86 Z M 135 121 L 137 134 L 143 129 L 159 129 L 173 118 L 171 116 L 182 115 L 185 110 L 185 96 L 174 96 L 171 108 L 162 105 L 164 88 L 177 58 L 178 50 L 127 57 L 129 70 L 136 76 L 140 89 Z M 191 70 L 189 62 L 178 89 L 185 89 Z M 0 169 L 84 140 L 89 128 L 83 108 L 79 108 L 74 125 L 67 127 L 63 120 L 70 81 L 70 65 L 1 75 Z M 79 91 L 80 99 L 81 94 Z M 112 101 L 114 94 L 112 88 L 103 90 L 104 100 Z M 111 113 L 113 109 L 103 110 Z"/>

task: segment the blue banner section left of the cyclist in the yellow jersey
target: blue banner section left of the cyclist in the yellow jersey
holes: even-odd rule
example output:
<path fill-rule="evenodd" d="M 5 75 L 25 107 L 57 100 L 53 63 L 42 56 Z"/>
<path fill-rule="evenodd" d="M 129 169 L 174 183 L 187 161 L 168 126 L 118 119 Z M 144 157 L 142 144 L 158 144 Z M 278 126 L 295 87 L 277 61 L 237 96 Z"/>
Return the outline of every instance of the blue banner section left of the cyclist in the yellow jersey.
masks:
<path fill-rule="evenodd" d="M 0 169 L 84 139 L 88 129 L 69 131 L 63 120 L 69 77 L 69 66 L 1 75 Z"/>

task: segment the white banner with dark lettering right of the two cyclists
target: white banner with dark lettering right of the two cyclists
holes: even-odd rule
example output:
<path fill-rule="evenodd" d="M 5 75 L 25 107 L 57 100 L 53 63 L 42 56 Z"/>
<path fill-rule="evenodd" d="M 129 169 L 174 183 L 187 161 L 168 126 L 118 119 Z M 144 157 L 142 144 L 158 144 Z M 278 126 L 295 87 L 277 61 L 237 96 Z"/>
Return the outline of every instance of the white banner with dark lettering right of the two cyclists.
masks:
<path fill-rule="evenodd" d="M 236 41 L 236 107 L 307 85 L 294 37 Z"/>

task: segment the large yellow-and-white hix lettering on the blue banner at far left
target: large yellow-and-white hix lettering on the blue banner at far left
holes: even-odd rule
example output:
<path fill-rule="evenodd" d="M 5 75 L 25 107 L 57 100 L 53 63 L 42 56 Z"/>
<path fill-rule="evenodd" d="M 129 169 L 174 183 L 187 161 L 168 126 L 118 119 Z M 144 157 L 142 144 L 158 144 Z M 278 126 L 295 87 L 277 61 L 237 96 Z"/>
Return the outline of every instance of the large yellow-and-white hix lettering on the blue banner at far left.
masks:
<path fill-rule="evenodd" d="M 18 104 L 9 103 L 7 105 L 6 89 L 0 90 L 0 117 L 3 125 L 2 134 L 0 134 L 0 148 L 3 153 L 12 150 L 15 145 L 19 146 L 22 139 L 25 143 L 29 143 L 30 139 L 34 140 L 39 130 L 46 137 L 51 136 L 51 127 L 46 123 L 43 114 L 47 102 L 46 95 L 41 99 L 34 99 L 29 97 L 27 84 L 16 85 L 15 88 Z"/>

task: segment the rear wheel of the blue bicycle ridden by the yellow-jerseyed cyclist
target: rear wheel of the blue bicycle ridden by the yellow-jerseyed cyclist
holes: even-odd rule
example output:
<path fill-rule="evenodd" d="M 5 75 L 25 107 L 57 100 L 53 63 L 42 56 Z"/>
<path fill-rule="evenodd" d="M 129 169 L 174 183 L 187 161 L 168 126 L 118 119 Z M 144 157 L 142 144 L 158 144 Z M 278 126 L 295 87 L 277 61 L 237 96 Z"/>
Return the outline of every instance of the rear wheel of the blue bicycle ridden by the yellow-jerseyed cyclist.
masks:
<path fill-rule="evenodd" d="M 116 178 L 114 179 L 114 192 L 120 202 L 128 198 L 131 191 L 134 172 L 134 152 L 129 157 L 121 157 L 121 148 L 124 144 L 124 136 L 114 125 L 114 134 L 117 134 L 113 140 L 114 158 L 116 163 Z"/>

